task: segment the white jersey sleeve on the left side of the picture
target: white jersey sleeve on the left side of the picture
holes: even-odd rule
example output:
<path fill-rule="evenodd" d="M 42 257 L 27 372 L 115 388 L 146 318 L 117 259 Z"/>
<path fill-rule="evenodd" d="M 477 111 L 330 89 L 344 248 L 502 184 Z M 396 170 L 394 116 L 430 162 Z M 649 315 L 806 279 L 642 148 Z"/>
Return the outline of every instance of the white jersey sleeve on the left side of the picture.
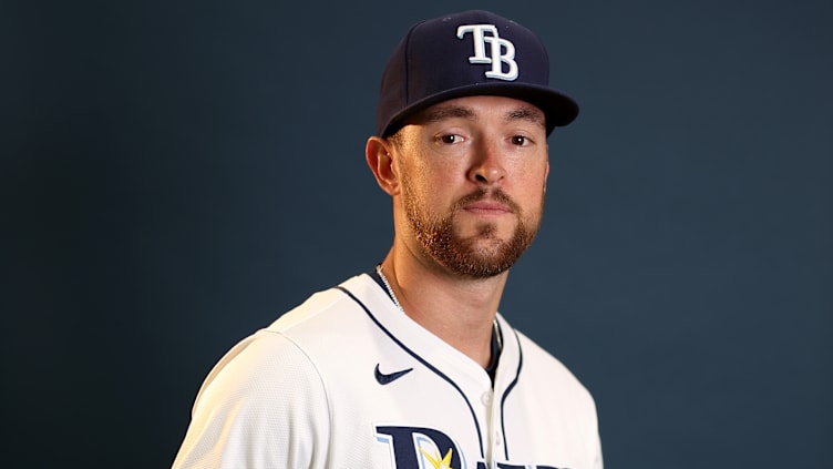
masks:
<path fill-rule="evenodd" d="M 261 330 L 214 367 L 173 468 L 325 468 L 327 394 L 307 355 Z"/>

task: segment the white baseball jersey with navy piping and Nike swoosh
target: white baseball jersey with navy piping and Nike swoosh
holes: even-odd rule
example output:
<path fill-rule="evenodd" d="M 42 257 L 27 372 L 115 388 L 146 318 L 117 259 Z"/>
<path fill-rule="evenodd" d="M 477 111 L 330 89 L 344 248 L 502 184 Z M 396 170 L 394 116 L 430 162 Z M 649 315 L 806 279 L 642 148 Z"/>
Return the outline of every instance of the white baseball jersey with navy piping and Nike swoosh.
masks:
<path fill-rule="evenodd" d="M 589 392 L 497 322 L 493 383 L 370 275 L 317 293 L 215 366 L 174 467 L 600 469 Z"/>

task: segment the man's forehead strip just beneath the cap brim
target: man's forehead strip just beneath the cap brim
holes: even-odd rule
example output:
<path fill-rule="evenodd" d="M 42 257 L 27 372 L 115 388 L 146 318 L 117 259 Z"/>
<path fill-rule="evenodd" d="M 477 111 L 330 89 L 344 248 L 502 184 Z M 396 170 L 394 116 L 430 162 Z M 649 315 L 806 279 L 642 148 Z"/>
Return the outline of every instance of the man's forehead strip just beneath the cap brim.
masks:
<path fill-rule="evenodd" d="M 522 120 L 545 126 L 544 111 L 536 105 L 514 98 L 491 95 L 463 96 L 443 101 L 420 111 L 410 121 L 428 124 L 454 118 L 479 120 L 487 115 L 497 115 L 507 122 Z"/>

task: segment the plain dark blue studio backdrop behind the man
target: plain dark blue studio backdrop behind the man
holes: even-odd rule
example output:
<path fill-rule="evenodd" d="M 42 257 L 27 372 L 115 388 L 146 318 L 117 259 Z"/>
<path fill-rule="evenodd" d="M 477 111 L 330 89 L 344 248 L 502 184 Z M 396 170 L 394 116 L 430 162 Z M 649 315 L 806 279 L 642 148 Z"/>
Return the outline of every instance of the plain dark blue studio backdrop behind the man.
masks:
<path fill-rule="evenodd" d="M 2 466 L 169 466 L 226 349 L 385 254 L 389 51 L 489 8 L 582 105 L 501 309 L 607 467 L 831 467 L 833 3 L 133 3 L 0 8 Z"/>

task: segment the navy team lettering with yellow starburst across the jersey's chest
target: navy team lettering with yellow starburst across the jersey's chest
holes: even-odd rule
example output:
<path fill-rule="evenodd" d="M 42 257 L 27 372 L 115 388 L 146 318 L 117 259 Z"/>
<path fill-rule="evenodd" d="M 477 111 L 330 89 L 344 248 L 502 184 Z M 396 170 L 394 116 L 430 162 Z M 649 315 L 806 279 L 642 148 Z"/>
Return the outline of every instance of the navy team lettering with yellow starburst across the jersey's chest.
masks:
<path fill-rule="evenodd" d="M 454 440 L 440 430 L 425 427 L 378 426 L 376 431 L 377 440 L 388 445 L 394 469 L 487 469 L 483 460 L 467 461 Z M 495 467 L 497 469 L 567 469 L 512 462 L 497 462 Z"/>

